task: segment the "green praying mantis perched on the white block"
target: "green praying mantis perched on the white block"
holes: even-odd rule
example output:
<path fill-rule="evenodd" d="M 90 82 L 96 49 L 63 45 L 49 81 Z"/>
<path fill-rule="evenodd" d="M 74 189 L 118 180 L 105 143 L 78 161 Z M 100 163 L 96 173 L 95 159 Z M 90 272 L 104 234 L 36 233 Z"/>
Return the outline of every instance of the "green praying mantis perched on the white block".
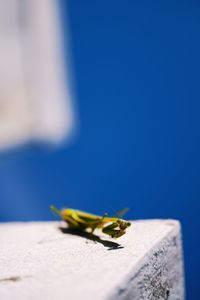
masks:
<path fill-rule="evenodd" d="M 131 226 L 131 223 L 118 217 L 108 217 L 107 214 L 101 216 L 93 215 L 81 210 L 71 208 L 57 209 L 54 206 L 50 207 L 53 212 L 56 212 L 66 223 L 69 228 L 79 231 L 90 230 L 93 234 L 96 228 L 102 230 L 112 238 L 118 238 L 126 233 L 126 228 Z M 126 213 L 127 209 L 119 212 L 117 215 Z"/>

